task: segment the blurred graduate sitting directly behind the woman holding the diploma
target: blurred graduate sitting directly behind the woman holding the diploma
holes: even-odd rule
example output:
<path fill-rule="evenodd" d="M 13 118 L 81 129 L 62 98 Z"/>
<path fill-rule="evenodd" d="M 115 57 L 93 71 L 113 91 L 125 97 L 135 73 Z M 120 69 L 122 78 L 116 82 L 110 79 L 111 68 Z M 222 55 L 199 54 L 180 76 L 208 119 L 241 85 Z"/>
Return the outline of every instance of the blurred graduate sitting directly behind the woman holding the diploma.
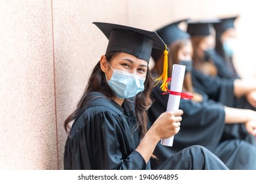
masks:
<path fill-rule="evenodd" d="M 174 63 L 185 65 L 183 91 L 193 93 L 194 97 L 191 100 L 181 99 L 179 108 L 184 112 L 181 129 L 174 136 L 172 147 L 165 146 L 165 151 L 161 152 L 155 150 L 154 154 L 160 158 L 153 159 L 152 163 L 157 165 L 175 151 L 179 152 L 191 145 L 198 144 L 217 155 L 229 169 L 256 169 L 255 146 L 242 139 L 221 141 L 225 125 L 238 122 L 244 127 L 247 135 L 256 135 L 253 133 L 256 129 L 256 112 L 225 107 L 221 103 L 209 99 L 204 92 L 192 86 L 192 44 L 189 34 L 178 27 L 182 21 L 166 25 L 156 32 L 168 44 L 170 50 L 168 76 L 172 76 Z M 156 61 L 152 72 L 157 77 L 163 72 L 163 56 L 162 54 L 153 54 L 152 56 Z M 168 103 L 168 95 L 163 95 L 158 85 L 153 88 L 153 104 L 148 110 L 151 122 L 154 122 L 162 112 L 166 111 Z"/>

